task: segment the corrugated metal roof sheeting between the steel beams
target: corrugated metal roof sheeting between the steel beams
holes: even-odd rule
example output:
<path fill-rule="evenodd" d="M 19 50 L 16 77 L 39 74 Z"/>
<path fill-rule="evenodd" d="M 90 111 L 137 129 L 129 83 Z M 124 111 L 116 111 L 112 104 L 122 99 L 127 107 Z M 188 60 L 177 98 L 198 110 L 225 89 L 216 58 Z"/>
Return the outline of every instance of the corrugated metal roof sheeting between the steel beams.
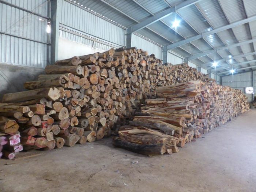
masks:
<path fill-rule="evenodd" d="M 64 0 L 62 0 L 64 1 Z M 68 1 L 68 0 L 65 0 Z M 173 7 L 185 0 L 76 0 L 76 3 L 83 4 L 97 12 L 98 14 L 114 20 L 125 27 L 132 26 L 144 19 L 157 14 L 166 8 Z M 137 33 L 144 38 L 151 39 L 159 45 L 168 45 L 170 42 L 178 42 L 184 38 L 193 37 L 199 33 L 204 33 L 212 29 L 229 25 L 229 23 L 245 19 L 256 15 L 256 1 L 254 0 L 203 0 L 194 5 L 177 11 L 177 14 L 171 14 L 152 25 L 139 30 Z M 247 14 L 247 15 L 246 15 Z M 172 22 L 180 20 L 180 26 L 172 29 Z M 72 21 L 71 21 L 72 22 Z M 182 57 L 191 56 L 191 54 L 201 51 L 211 50 L 256 38 L 256 23 L 234 27 L 221 31 L 218 34 L 211 34 L 204 39 L 198 39 L 189 44 L 182 45 L 172 51 Z M 229 50 L 222 50 L 218 54 L 195 59 L 193 62 L 202 64 L 214 59 L 222 59 L 231 55 L 244 54 L 255 51 L 256 43 L 242 45 Z M 242 62 L 252 60 L 256 56 L 237 58 L 233 62 Z M 225 62 L 223 63 L 225 65 Z M 227 65 L 227 63 L 226 63 Z"/>

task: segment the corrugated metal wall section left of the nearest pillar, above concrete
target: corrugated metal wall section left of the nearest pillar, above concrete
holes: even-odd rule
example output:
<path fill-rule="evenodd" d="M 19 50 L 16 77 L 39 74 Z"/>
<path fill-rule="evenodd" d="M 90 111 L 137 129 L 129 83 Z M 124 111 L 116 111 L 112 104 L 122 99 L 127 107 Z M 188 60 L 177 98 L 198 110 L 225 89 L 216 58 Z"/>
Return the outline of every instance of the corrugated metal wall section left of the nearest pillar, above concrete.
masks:
<path fill-rule="evenodd" d="M 47 0 L 4 0 L 48 16 Z M 47 20 L 0 3 L 0 62 L 44 68 L 47 64 Z"/>

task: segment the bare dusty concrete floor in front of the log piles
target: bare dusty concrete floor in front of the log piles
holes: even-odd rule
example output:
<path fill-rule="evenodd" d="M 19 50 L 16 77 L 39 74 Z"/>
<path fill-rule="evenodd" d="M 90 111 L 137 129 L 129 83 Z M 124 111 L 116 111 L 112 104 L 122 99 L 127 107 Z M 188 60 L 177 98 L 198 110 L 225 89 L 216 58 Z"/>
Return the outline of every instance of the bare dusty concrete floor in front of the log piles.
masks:
<path fill-rule="evenodd" d="M 108 138 L 1 159 L 0 191 L 256 191 L 255 125 L 252 110 L 172 155 L 146 157 Z"/>

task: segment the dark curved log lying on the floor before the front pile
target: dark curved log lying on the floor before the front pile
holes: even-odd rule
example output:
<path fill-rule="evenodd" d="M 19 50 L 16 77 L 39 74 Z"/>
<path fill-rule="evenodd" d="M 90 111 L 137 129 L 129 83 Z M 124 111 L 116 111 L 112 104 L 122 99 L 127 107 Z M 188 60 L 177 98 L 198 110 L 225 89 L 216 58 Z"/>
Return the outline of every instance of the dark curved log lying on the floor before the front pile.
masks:
<path fill-rule="evenodd" d="M 162 155 L 166 151 L 163 143 L 139 145 L 113 138 L 113 145 L 142 155 Z"/>

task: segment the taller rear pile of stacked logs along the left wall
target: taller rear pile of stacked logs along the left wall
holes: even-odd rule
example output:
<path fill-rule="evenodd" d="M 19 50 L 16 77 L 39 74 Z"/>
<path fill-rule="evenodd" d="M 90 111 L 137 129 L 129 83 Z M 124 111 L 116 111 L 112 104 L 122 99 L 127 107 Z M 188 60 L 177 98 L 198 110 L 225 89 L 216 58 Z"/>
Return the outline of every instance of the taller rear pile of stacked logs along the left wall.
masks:
<path fill-rule="evenodd" d="M 20 134 L 24 150 L 51 150 L 64 145 L 94 142 L 110 136 L 111 129 L 127 126 L 145 99 L 157 97 L 157 87 L 191 80 L 212 81 L 186 63 L 162 64 L 154 54 L 149 56 L 146 51 L 136 48 L 110 49 L 104 53 L 56 61 L 54 65 L 46 66 L 45 73 L 39 75 L 37 81 L 24 84 L 29 91 L 4 94 L 3 103 L 0 103 L 3 140 Z M 191 110 L 184 111 L 187 113 L 185 117 L 176 112 L 182 125 L 177 124 L 178 118 L 173 118 L 176 124 L 161 124 L 163 128 L 160 131 L 163 135 L 168 134 L 167 138 L 161 135 L 159 139 L 158 130 L 154 132 L 157 134 L 154 138 L 148 136 L 147 140 L 157 140 L 155 147 L 160 145 L 167 153 L 178 151 L 179 139 L 175 134 L 181 135 L 182 126 L 187 123 L 184 118 L 191 115 Z M 144 124 L 138 126 L 138 130 L 149 131 Z M 124 127 L 123 131 L 126 129 Z"/>

